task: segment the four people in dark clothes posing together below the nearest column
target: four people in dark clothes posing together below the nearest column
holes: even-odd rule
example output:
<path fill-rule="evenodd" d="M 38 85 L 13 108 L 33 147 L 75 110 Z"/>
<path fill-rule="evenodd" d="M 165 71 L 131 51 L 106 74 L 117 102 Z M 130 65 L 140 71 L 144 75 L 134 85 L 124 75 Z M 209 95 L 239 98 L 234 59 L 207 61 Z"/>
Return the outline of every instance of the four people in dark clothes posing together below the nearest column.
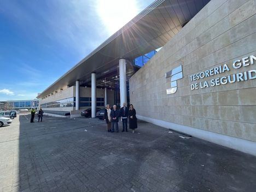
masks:
<path fill-rule="evenodd" d="M 132 133 L 135 132 L 137 129 L 137 118 L 136 118 L 136 110 L 133 108 L 133 105 L 130 104 L 129 108 L 126 107 L 126 103 L 123 103 L 123 107 L 119 110 L 117 106 L 114 105 L 113 109 L 110 108 L 110 105 L 107 104 L 105 113 L 104 113 L 104 120 L 107 123 L 107 131 L 108 132 L 119 132 L 118 128 L 118 121 L 119 117 L 123 122 L 123 131 L 128 132 L 127 129 L 127 121 L 129 119 L 129 129 L 132 130 Z"/>

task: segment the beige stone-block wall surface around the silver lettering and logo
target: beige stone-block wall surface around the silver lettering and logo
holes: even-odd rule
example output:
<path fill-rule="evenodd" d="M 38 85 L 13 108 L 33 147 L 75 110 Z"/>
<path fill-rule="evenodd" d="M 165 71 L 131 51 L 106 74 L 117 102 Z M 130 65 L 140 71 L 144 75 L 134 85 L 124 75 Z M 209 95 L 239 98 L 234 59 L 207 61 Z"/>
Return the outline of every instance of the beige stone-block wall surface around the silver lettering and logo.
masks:
<path fill-rule="evenodd" d="M 256 80 L 191 90 L 190 75 L 226 63 L 228 74 L 255 69 L 233 69 L 232 62 L 256 56 L 255 0 L 212 0 L 130 79 L 130 101 L 137 114 L 232 137 L 256 141 Z M 182 65 L 178 90 L 165 73 Z"/>

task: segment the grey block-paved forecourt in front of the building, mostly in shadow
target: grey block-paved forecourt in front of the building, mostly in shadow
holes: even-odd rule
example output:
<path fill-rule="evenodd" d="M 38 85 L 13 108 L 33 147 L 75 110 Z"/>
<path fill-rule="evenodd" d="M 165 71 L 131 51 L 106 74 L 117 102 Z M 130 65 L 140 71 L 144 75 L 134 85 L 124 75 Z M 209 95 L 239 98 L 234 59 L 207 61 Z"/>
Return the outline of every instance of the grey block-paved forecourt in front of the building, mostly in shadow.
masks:
<path fill-rule="evenodd" d="M 256 157 L 159 126 L 109 133 L 98 119 L 29 120 L 0 128 L 0 191 L 256 189 Z"/>

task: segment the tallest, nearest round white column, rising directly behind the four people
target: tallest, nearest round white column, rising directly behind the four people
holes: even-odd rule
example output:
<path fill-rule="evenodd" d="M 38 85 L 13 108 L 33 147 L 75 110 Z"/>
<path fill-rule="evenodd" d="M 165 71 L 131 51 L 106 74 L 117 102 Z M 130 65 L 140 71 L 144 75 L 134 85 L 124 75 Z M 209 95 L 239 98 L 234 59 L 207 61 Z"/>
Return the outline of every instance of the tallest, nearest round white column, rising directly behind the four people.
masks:
<path fill-rule="evenodd" d="M 123 106 L 123 103 L 127 104 L 126 97 L 126 65 L 125 59 L 119 59 L 119 79 L 120 79 L 120 107 Z"/>

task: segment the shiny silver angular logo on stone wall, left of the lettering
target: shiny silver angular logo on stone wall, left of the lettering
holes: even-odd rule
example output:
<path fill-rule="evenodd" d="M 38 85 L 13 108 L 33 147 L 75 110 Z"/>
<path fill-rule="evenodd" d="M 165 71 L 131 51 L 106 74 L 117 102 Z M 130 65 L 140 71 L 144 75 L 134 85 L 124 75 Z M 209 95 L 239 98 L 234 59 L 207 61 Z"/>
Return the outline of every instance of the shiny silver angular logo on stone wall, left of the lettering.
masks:
<path fill-rule="evenodd" d="M 165 78 L 169 78 L 169 77 L 171 77 L 171 89 L 166 89 L 167 95 L 174 94 L 177 91 L 178 89 L 177 80 L 183 78 L 182 65 L 165 73 Z"/>

